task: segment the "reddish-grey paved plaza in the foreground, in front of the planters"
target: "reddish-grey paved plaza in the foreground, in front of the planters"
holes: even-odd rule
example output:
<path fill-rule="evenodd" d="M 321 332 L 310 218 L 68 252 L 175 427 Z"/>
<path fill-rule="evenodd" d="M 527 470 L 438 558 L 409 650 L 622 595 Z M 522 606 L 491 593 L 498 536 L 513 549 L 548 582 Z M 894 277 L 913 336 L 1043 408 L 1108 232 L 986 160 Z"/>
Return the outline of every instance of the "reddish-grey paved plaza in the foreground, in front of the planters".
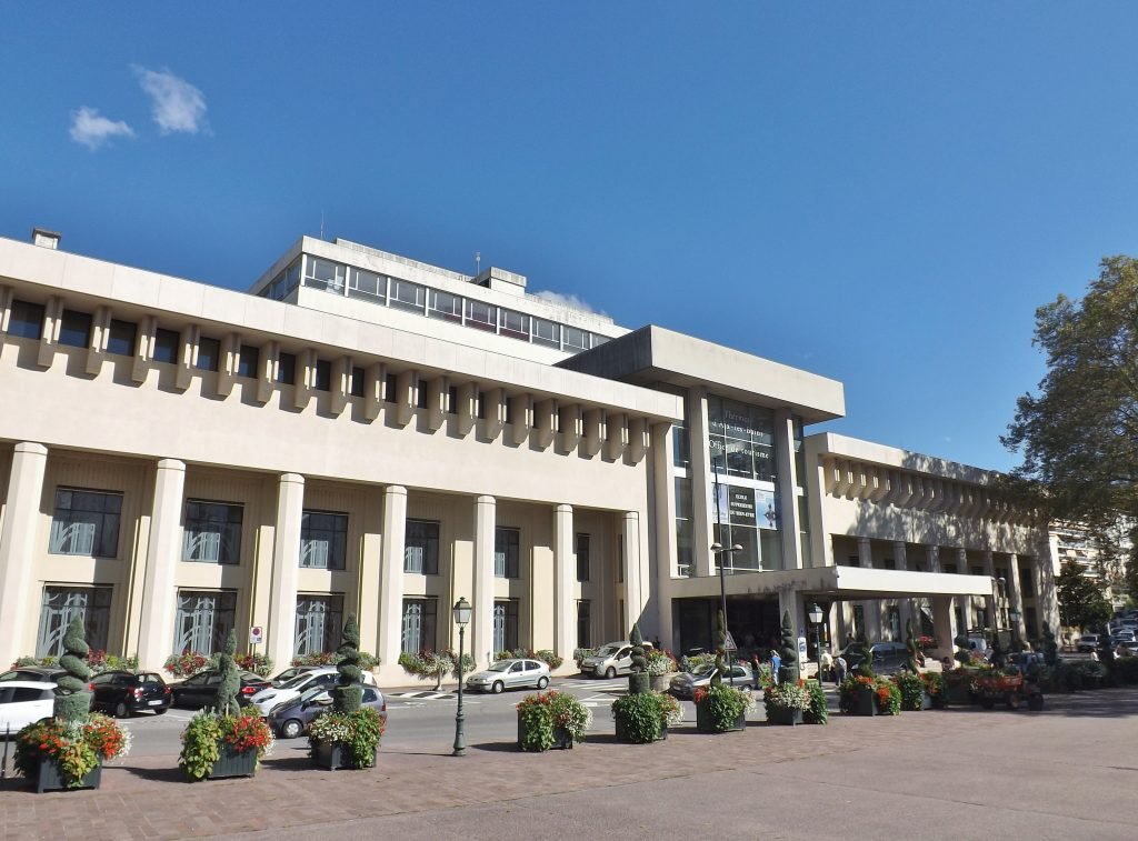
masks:
<path fill-rule="evenodd" d="M 1041 714 L 834 715 L 718 736 L 685 725 L 654 745 L 599 734 L 545 755 L 512 736 L 454 758 L 440 733 L 435 752 L 381 749 L 369 772 L 281 751 L 251 780 L 184 783 L 173 757 L 127 757 L 98 791 L 6 780 L 0 838 L 1135 836 L 1135 690 L 1049 696 Z"/>

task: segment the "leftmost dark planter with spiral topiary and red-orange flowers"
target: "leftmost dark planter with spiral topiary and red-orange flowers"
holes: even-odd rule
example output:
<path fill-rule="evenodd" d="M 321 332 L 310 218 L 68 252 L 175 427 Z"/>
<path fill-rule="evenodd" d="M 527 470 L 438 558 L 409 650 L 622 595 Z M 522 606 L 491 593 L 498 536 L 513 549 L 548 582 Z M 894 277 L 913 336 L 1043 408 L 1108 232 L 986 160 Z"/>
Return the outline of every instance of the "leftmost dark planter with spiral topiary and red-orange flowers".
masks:
<path fill-rule="evenodd" d="M 16 735 L 16 773 L 35 783 L 35 790 L 98 789 L 102 762 L 125 756 L 130 734 L 106 716 L 89 712 L 91 671 L 83 621 L 72 619 L 64 635 L 66 653 L 59 665 L 67 674 L 57 679 L 53 716 L 30 724 Z"/>

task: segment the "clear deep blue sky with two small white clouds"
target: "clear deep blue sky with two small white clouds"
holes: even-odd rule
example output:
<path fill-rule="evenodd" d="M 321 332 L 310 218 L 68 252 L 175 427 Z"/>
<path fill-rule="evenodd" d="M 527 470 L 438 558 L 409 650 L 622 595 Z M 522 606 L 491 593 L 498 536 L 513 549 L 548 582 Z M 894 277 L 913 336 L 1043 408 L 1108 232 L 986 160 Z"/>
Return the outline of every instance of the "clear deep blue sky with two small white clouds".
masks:
<path fill-rule="evenodd" d="M 245 288 L 323 214 L 1006 469 L 1034 308 L 1138 253 L 1136 32 L 1121 2 L 7 3 L 0 236 Z"/>

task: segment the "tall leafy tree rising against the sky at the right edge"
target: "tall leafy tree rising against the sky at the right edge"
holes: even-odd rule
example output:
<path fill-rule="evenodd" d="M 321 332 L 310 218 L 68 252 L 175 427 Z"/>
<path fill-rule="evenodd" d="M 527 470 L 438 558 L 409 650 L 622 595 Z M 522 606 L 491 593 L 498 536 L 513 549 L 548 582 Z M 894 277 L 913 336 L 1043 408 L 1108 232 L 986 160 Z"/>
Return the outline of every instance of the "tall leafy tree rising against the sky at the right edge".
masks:
<path fill-rule="evenodd" d="M 1086 523 L 1115 543 L 1119 517 L 1138 552 L 1138 261 L 1107 257 L 1082 300 L 1059 295 L 1036 311 L 1047 354 L 1039 394 L 1017 401 L 1003 443 L 1023 454 L 1014 480 L 1039 488 L 1053 519 Z"/>

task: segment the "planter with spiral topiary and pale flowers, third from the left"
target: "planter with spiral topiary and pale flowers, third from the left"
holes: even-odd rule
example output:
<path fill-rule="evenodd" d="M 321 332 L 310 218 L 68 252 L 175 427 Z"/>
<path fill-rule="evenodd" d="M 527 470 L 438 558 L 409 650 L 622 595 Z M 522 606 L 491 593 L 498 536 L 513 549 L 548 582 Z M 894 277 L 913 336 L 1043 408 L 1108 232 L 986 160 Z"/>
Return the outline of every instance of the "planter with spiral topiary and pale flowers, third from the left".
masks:
<path fill-rule="evenodd" d="M 331 690 L 332 709 L 308 725 L 308 756 L 320 768 L 372 768 L 384 737 L 384 719 L 361 707 L 363 670 L 360 668 L 360 625 L 353 615 L 344 620 L 343 642 L 336 650 L 339 678 Z"/>

